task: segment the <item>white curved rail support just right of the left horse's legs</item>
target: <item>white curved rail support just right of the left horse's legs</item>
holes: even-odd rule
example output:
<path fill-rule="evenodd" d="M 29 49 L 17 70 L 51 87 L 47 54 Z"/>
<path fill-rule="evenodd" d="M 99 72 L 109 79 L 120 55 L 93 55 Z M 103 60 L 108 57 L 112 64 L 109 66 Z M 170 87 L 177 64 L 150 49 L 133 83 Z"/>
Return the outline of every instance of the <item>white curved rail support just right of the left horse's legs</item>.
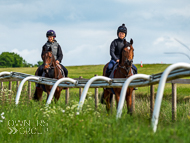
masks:
<path fill-rule="evenodd" d="M 56 81 L 56 83 L 53 85 L 53 87 L 52 87 L 52 89 L 51 89 L 51 92 L 50 92 L 50 94 L 49 94 L 49 97 L 48 97 L 48 100 L 47 100 L 47 102 L 46 102 L 46 105 L 48 105 L 48 104 L 51 103 L 51 100 L 52 100 L 52 98 L 53 98 L 53 95 L 54 95 L 54 93 L 55 93 L 55 90 L 56 90 L 57 86 L 58 86 L 61 82 L 64 82 L 64 81 L 65 81 L 65 82 L 66 82 L 66 81 L 71 82 L 71 83 L 73 83 L 73 84 L 75 84 L 75 85 L 77 85 L 77 83 L 78 83 L 77 80 L 74 80 L 74 79 L 71 79 L 71 78 L 61 78 L 61 79 L 59 79 L 58 81 Z"/>

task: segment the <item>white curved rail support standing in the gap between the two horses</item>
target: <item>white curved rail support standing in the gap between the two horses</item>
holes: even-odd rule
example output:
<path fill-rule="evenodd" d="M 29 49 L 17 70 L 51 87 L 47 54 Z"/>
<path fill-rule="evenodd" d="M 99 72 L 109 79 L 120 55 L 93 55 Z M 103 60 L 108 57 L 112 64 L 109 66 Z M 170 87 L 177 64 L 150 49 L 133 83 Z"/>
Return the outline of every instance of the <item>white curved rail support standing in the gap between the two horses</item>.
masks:
<path fill-rule="evenodd" d="M 90 87 L 90 85 L 96 81 L 96 80 L 104 80 L 104 81 L 107 81 L 109 84 L 111 84 L 111 81 L 112 79 L 111 78 L 108 78 L 108 77 L 105 77 L 105 76 L 95 76 L 93 78 L 91 78 L 85 85 L 84 87 L 84 90 L 82 92 L 82 95 L 81 95 L 81 98 L 80 98 L 80 101 L 79 101 L 79 105 L 78 105 L 78 112 L 77 114 L 79 114 L 80 110 L 82 109 L 82 106 L 84 104 L 84 100 L 86 98 L 86 94 L 88 92 L 88 89 Z"/>

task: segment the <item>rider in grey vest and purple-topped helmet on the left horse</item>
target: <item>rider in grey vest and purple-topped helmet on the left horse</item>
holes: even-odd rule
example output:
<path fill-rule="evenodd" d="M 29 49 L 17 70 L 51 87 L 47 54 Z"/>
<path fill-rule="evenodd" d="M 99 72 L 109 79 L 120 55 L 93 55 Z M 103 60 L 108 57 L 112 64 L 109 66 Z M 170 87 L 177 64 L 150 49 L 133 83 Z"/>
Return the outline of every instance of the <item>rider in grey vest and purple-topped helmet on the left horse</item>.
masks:
<path fill-rule="evenodd" d="M 51 48 L 52 48 L 52 53 L 53 53 L 54 58 L 55 58 L 55 60 L 56 60 L 56 63 L 61 65 L 61 67 L 62 67 L 63 70 L 64 70 L 65 77 L 67 77 L 67 75 L 68 75 L 68 70 L 61 64 L 61 60 L 63 59 L 63 53 L 62 53 L 62 50 L 61 50 L 61 46 L 60 46 L 60 45 L 57 43 L 57 41 L 55 40 L 55 37 L 56 37 L 55 32 L 54 32 L 53 30 L 47 31 L 46 37 L 48 38 L 48 41 L 47 41 L 47 42 L 44 44 L 44 46 L 42 47 L 41 57 L 42 57 L 42 55 L 43 55 L 43 49 L 48 50 L 49 47 L 51 47 Z M 38 76 L 42 76 L 43 67 L 44 67 L 44 64 L 42 64 L 42 65 L 39 67 Z"/>

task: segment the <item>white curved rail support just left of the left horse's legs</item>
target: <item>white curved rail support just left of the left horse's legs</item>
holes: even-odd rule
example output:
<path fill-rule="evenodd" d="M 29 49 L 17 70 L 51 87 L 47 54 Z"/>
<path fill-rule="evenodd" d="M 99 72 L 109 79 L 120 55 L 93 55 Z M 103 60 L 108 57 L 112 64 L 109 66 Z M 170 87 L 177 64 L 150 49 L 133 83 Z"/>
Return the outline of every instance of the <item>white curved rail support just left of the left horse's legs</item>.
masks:
<path fill-rule="evenodd" d="M 18 91 L 17 91 L 16 99 L 15 99 L 15 103 L 16 103 L 16 105 L 17 105 L 18 102 L 19 102 L 20 94 L 21 94 L 22 87 L 23 87 L 24 83 L 25 83 L 27 80 L 30 80 L 30 79 L 33 79 L 33 80 L 39 80 L 40 77 L 36 77 L 36 76 L 28 76 L 28 77 L 24 78 L 24 79 L 21 81 L 21 83 L 20 83 L 20 85 L 19 85 L 19 88 L 18 88 Z"/>

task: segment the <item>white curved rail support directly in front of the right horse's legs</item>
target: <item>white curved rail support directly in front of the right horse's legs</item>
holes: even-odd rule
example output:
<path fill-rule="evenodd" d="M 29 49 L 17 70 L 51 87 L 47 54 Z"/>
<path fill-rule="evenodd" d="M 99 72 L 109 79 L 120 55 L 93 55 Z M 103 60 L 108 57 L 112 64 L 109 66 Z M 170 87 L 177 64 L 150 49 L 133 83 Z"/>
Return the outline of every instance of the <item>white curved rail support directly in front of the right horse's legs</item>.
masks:
<path fill-rule="evenodd" d="M 150 80 L 150 75 L 146 75 L 146 74 L 136 74 L 133 76 L 130 76 L 123 84 L 122 86 L 122 90 L 120 93 L 120 99 L 119 99 L 119 104 L 118 104 L 118 108 L 117 108 L 117 115 L 116 118 L 121 118 L 121 114 L 122 114 L 122 109 L 123 109 L 123 105 L 124 105 L 124 101 L 125 101 L 125 96 L 126 96 L 126 92 L 127 92 L 127 88 L 129 87 L 129 84 L 135 80 L 135 79 L 145 79 L 145 80 Z"/>

